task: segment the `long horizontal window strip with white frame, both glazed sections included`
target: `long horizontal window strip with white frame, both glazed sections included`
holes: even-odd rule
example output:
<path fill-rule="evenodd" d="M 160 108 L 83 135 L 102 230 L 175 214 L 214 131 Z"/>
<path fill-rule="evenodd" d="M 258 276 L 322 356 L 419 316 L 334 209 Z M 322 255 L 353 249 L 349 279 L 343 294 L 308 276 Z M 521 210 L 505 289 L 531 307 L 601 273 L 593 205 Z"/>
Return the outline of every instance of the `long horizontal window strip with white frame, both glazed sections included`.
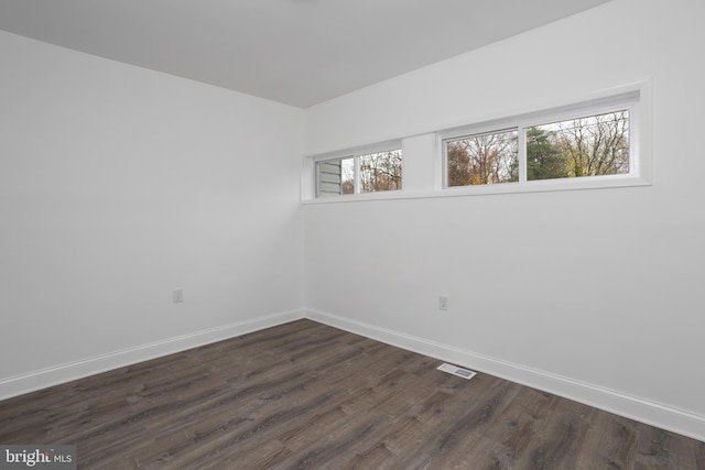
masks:
<path fill-rule="evenodd" d="M 649 186 L 651 97 L 651 84 L 639 81 L 575 101 L 562 99 L 562 105 L 544 110 L 513 116 L 497 110 L 498 119 L 308 155 L 302 200 L 338 204 Z"/>

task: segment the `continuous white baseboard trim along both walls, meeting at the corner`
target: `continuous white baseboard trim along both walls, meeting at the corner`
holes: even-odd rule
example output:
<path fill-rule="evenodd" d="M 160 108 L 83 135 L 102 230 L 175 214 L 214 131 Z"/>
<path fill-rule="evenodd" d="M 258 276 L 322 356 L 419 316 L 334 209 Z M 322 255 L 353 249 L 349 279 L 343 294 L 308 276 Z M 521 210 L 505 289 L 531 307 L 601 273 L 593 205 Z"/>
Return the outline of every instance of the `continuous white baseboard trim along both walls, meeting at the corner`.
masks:
<path fill-rule="evenodd" d="M 282 311 L 0 380 L 0 400 L 307 318 L 705 441 L 705 416 L 315 309 Z"/>

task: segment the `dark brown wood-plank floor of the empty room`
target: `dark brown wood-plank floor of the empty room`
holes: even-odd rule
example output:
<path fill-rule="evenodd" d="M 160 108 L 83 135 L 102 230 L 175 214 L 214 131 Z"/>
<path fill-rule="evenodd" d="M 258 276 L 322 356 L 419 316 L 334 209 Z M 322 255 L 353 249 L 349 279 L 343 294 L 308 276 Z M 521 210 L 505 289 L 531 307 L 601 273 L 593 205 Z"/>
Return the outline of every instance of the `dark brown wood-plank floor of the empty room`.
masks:
<path fill-rule="evenodd" d="M 705 469 L 705 444 L 310 320 L 0 402 L 82 469 Z"/>

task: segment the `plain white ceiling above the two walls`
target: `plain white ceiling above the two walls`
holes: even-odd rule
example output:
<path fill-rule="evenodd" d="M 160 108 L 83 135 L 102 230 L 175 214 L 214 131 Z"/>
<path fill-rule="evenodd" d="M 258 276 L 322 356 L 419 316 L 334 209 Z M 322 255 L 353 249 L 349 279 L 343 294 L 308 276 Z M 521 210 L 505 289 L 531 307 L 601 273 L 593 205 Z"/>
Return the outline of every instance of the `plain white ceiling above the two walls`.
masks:
<path fill-rule="evenodd" d="M 0 29 L 302 108 L 609 0 L 0 0 Z"/>

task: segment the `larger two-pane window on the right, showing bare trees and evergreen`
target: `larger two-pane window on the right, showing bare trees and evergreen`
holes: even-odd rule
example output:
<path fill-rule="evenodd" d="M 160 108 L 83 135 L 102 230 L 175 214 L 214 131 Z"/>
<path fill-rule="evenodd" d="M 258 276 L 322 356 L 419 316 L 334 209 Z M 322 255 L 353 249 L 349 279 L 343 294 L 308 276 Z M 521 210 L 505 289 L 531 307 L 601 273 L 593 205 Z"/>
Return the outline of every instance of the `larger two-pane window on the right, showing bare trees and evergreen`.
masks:
<path fill-rule="evenodd" d="M 503 120 L 443 139 L 444 186 L 636 175 L 638 97 Z M 490 128 L 489 130 L 487 128 Z M 463 130 L 462 130 L 463 131 Z"/>

